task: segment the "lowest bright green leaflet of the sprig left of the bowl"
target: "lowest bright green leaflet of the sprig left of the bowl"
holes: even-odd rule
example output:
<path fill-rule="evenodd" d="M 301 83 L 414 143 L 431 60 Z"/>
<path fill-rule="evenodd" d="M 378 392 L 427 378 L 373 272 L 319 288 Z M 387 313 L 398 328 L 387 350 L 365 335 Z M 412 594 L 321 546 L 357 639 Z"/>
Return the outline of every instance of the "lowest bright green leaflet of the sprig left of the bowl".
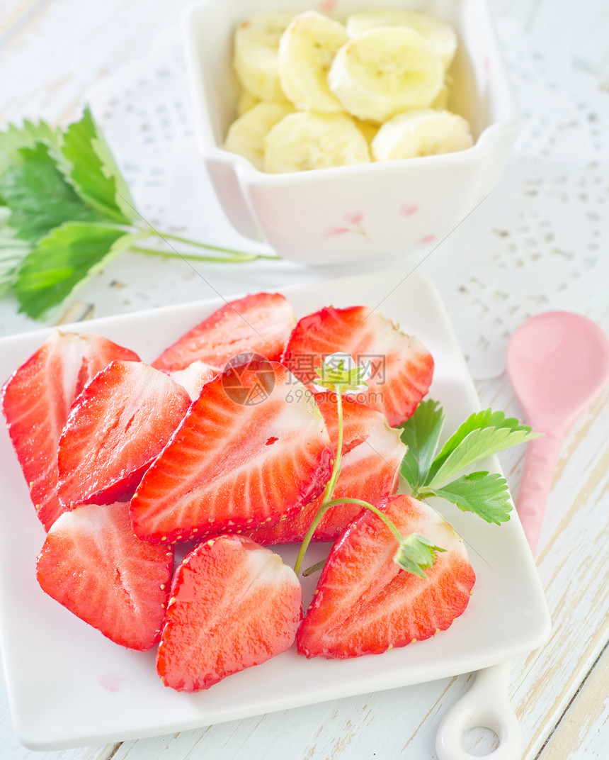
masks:
<path fill-rule="evenodd" d="M 127 250 L 134 236 L 112 226 L 67 222 L 39 240 L 27 255 L 14 286 L 21 312 L 41 318 L 75 287 Z"/>

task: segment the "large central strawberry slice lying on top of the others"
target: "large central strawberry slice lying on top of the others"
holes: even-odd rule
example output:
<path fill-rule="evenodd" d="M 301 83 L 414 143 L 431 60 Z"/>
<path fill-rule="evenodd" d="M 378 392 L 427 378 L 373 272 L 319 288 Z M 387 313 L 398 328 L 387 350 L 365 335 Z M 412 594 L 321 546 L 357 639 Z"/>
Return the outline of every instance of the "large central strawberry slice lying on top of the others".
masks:
<path fill-rule="evenodd" d="M 276 362 L 231 367 L 204 385 L 131 500 L 140 538 L 235 530 L 314 499 L 330 477 L 330 438 L 311 394 Z"/>

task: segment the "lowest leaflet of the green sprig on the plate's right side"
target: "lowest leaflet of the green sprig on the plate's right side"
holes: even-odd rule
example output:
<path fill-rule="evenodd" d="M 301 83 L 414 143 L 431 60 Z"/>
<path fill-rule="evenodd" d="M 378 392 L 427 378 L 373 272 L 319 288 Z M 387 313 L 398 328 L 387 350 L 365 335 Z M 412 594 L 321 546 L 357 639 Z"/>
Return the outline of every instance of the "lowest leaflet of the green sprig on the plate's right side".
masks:
<path fill-rule="evenodd" d="M 510 491 L 505 478 L 497 473 L 470 473 L 442 488 L 426 487 L 424 491 L 424 496 L 440 496 L 462 511 L 475 512 L 489 523 L 500 525 L 510 519 Z"/>

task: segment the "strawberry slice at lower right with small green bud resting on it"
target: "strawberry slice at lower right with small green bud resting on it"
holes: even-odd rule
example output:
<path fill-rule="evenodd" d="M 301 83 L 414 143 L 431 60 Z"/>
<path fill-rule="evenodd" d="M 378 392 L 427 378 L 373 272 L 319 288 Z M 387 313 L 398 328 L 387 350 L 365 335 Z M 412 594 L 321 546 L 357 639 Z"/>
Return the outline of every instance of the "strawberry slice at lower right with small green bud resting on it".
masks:
<path fill-rule="evenodd" d="M 402 535 L 417 533 L 446 549 L 428 578 L 393 562 L 389 528 L 363 512 L 330 551 L 313 602 L 298 630 L 306 657 L 359 657 L 403 647 L 447 629 L 469 602 L 475 575 L 462 540 L 440 515 L 410 496 L 394 496 L 383 511 Z"/>

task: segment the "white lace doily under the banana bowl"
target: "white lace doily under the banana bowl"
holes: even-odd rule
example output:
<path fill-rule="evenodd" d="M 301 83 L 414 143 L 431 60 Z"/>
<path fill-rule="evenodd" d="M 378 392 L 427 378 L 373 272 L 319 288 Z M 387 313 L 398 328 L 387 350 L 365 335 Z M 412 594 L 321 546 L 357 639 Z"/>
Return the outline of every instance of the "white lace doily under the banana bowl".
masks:
<path fill-rule="evenodd" d="M 512 4 L 501 5 L 495 0 L 522 111 L 519 139 L 491 196 L 424 261 L 402 262 L 420 264 L 434 280 L 475 378 L 503 371 L 507 337 L 529 315 L 571 309 L 605 329 L 609 317 L 609 65 L 603 68 L 607 62 L 598 53 L 604 50 L 598 40 L 609 39 L 609 19 L 582 26 L 578 14 L 581 44 L 568 46 L 557 44 L 548 18 L 535 17 L 535 2 L 517 4 L 521 17 Z M 566 30 L 569 24 L 560 21 Z M 213 195 L 194 139 L 177 28 L 89 94 L 150 223 L 207 242 L 267 250 L 232 230 Z M 105 315 L 353 271 L 287 261 L 212 270 L 128 254 L 78 297 Z"/>

